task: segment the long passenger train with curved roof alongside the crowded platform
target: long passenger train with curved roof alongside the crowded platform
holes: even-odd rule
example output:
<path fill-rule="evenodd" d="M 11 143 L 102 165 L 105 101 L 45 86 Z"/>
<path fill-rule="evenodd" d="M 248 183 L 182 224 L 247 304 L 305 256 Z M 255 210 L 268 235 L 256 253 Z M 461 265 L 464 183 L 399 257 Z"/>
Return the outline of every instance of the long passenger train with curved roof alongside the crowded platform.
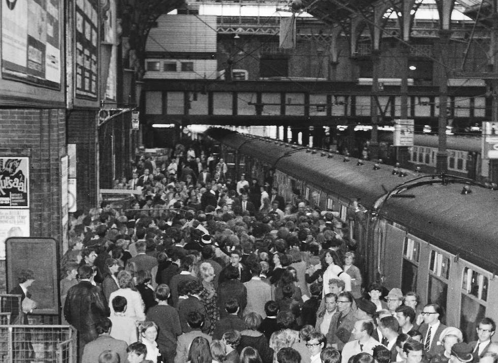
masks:
<path fill-rule="evenodd" d="M 422 302 L 441 304 L 444 322 L 460 327 L 467 340 L 476 339 L 482 317 L 498 320 L 497 191 L 474 184 L 462 194 L 470 181 L 413 172 L 400 177 L 384 164 L 374 168 L 374 162 L 224 129 L 208 135 L 221 143 L 233 178 L 274 169 L 274 185 L 287 201 L 299 192 L 310 205 L 338 212 L 358 242 L 367 283 L 414 290 Z"/>

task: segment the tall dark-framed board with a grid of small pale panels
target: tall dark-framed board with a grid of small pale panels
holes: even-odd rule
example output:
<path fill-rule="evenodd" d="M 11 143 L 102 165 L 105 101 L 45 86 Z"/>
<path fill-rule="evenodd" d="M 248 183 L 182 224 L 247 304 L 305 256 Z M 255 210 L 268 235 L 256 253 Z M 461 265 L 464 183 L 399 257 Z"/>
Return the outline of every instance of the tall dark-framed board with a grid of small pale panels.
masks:
<path fill-rule="evenodd" d="M 97 100 L 97 0 L 76 0 L 76 97 Z"/>

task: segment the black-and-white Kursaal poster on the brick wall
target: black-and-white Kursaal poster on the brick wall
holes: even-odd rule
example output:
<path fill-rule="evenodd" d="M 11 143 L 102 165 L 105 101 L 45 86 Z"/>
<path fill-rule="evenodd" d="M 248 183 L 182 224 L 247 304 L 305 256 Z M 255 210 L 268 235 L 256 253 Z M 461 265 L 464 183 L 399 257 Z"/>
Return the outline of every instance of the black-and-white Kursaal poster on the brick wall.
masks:
<path fill-rule="evenodd" d="M 29 208 L 29 158 L 0 156 L 0 209 Z"/>

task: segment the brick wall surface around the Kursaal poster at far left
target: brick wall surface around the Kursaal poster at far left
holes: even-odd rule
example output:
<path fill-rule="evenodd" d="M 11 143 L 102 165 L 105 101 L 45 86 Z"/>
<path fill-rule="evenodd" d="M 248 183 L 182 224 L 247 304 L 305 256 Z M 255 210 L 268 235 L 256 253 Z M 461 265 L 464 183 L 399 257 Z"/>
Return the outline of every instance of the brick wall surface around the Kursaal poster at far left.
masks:
<path fill-rule="evenodd" d="M 0 109 L 0 155 L 29 156 L 31 237 L 61 240 L 60 158 L 66 154 L 65 110 Z M 5 291 L 4 263 L 0 291 Z"/>

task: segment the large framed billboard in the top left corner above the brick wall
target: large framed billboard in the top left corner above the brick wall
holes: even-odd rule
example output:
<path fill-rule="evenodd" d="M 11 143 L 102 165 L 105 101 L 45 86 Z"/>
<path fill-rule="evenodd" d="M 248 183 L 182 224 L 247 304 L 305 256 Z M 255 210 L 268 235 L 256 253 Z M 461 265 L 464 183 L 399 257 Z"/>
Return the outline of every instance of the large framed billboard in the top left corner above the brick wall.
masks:
<path fill-rule="evenodd" d="M 60 89 L 60 0 L 2 1 L 2 77 Z"/>

